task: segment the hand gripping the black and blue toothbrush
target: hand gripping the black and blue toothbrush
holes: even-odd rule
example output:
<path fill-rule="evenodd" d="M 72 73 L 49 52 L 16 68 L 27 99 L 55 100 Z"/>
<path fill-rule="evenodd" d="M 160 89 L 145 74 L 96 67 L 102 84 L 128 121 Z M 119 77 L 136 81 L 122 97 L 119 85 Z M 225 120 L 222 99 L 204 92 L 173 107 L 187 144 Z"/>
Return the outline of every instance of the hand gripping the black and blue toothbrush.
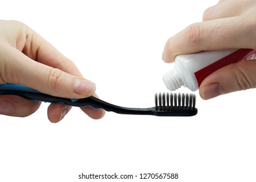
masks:
<path fill-rule="evenodd" d="M 95 95 L 95 84 L 84 79 L 78 68 L 56 48 L 18 21 L 0 20 L 0 84 L 25 85 L 45 94 L 63 98 Z M 18 96 L 0 96 L 0 114 L 28 116 L 40 107 L 39 101 Z M 48 119 L 59 122 L 70 106 L 54 103 Z M 81 108 L 91 118 L 104 116 L 104 110 Z"/>

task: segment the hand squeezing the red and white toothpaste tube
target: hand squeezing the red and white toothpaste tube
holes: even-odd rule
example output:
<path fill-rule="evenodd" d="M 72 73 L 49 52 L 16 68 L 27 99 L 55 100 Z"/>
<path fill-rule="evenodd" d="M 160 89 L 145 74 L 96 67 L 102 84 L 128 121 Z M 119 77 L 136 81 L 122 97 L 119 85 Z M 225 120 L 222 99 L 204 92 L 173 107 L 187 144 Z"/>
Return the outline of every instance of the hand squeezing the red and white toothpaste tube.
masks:
<path fill-rule="evenodd" d="M 193 23 L 172 36 L 165 45 L 163 60 L 177 55 L 221 49 L 256 49 L 256 1 L 222 0 L 205 10 L 203 21 Z M 221 94 L 256 88 L 256 62 L 244 60 L 210 74 L 199 87 L 200 96 L 210 99 Z M 256 59 L 256 57 L 255 57 Z"/>

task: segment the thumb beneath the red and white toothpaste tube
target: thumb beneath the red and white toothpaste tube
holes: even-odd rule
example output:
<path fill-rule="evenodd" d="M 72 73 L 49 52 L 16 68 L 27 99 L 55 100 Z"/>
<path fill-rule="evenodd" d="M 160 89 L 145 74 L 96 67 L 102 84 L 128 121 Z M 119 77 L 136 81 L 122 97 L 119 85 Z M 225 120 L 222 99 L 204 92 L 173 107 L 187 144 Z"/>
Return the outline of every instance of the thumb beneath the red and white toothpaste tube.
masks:
<path fill-rule="evenodd" d="M 229 64 L 202 81 L 199 93 L 202 99 L 222 94 L 256 88 L 256 60 L 243 60 Z"/>

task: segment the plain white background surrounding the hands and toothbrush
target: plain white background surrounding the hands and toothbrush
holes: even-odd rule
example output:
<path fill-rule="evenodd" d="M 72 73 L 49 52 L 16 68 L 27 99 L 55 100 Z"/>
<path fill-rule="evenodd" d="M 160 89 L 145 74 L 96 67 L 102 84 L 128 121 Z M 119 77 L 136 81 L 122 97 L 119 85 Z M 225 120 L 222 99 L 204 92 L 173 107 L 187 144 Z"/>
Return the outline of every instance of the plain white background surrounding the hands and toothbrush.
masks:
<path fill-rule="evenodd" d="M 167 91 L 162 75 L 172 67 L 161 60 L 165 42 L 216 3 L 8 0 L 0 3 L 0 18 L 39 32 L 97 84 L 104 101 L 152 107 L 155 92 Z M 189 118 L 108 112 L 92 120 L 73 108 L 54 124 L 48 103 L 27 118 L 0 116 L 0 181 L 89 181 L 78 175 L 114 172 L 255 181 L 255 90 L 209 101 L 195 93 L 199 113 Z"/>

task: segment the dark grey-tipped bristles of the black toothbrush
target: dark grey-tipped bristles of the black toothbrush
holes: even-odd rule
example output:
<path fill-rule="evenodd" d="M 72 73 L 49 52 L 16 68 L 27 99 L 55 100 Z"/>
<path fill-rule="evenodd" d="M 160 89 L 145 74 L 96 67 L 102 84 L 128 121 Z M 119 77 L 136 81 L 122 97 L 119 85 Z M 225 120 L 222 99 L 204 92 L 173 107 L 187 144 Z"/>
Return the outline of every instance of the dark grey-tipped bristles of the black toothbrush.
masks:
<path fill-rule="evenodd" d="M 195 110 L 195 94 L 159 93 L 155 94 L 155 110 L 192 111 Z"/>

